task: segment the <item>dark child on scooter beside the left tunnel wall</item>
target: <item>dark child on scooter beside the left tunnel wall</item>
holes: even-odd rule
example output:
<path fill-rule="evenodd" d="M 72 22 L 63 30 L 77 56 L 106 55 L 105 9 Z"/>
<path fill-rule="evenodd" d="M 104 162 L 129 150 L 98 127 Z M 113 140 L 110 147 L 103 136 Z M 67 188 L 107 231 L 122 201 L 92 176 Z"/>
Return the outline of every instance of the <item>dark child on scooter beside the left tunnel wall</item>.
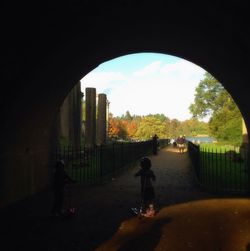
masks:
<path fill-rule="evenodd" d="M 56 162 L 54 174 L 54 205 L 52 214 L 54 216 L 63 216 L 64 188 L 67 183 L 74 182 L 64 170 L 63 160 Z"/>

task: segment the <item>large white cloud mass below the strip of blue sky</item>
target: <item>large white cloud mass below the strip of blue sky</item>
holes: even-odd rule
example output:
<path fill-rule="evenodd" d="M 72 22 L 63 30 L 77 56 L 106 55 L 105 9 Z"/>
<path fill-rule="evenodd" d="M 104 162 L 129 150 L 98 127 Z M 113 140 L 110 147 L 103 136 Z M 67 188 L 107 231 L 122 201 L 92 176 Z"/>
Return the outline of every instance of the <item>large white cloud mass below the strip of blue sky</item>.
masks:
<path fill-rule="evenodd" d="M 98 93 L 109 89 L 110 112 L 115 116 L 129 110 L 131 114 L 163 113 L 171 119 L 185 120 L 191 117 L 188 107 L 204 72 L 185 60 L 173 64 L 154 61 L 129 76 L 93 72 L 81 82 L 85 87 L 95 84 L 92 87 Z"/>

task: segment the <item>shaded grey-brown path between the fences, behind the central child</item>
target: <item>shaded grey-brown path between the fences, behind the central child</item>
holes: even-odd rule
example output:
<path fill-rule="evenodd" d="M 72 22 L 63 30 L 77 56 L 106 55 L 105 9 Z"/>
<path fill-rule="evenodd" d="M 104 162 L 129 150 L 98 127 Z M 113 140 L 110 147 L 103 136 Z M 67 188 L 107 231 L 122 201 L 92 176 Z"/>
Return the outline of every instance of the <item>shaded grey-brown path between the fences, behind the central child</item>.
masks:
<path fill-rule="evenodd" d="M 181 203 L 213 196 L 202 192 L 196 186 L 188 153 L 180 154 L 176 148 L 162 149 L 157 156 L 150 156 L 152 170 L 156 175 L 153 183 L 158 207 Z M 131 206 L 137 206 L 140 201 L 140 180 L 134 178 L 139 167 L 131 168 L 107 186 L 106 192 L 110 196 L 115 191 L 117 199 L 122 204 L 129 201 Z M 129 195 L 129 196 L 128 196 Z M 112 195 L 114 196 L 114 195 Z M 126 199 L 126 200 L 125 200 Z"/>

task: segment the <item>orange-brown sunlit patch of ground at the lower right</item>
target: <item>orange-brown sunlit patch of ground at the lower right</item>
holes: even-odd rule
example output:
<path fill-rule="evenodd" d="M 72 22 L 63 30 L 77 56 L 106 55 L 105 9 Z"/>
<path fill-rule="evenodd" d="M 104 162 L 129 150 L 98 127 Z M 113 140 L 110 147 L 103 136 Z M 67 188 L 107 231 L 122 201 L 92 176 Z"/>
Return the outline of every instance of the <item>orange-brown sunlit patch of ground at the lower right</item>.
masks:
<path fill-rule="evenodd" d="M 153 219 L 124 221 L 96 251 L 248 251 L 250 200 L 209 199 L 163 208 Z"/>

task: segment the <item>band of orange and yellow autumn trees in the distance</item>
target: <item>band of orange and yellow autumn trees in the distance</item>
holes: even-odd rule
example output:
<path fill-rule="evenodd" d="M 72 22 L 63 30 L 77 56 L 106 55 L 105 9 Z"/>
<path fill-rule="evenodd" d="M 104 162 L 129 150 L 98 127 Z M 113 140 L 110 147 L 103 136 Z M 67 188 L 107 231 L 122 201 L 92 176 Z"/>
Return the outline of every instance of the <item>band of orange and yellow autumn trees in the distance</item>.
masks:
<path fill-rule="evenodd" d="M 128 111 L 121 117 L 109 114 L 108 124 L 109 138 L 123 140 L 147 140 L 154 134 L 160 138 L 175 138 L 180 134 L 196 136 L 208 131 L 207 124 L 197 119 L 170 120 L 163 114 L 131 116 Z"/>

